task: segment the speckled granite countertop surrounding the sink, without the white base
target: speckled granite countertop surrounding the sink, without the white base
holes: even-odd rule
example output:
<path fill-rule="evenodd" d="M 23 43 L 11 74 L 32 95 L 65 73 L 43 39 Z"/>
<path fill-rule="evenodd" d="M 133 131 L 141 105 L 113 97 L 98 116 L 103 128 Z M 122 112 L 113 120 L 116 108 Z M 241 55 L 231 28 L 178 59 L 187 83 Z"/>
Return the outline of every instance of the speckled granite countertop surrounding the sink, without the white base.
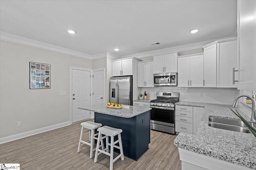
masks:
<path fill-rule="evenodd" d="M 240 120 L 230 110 L 230 105 L 179 103 L 183 106 L 204 106 L 204 113 L 196 135 L 179 133 L 174 141 L 176 147 L 256 169 L 256 138 L 251 133 L 240 133 L 208 126 L 209 116 Z M 237 110 L 245 119 L 250 120 L 250 117 L 240 109 Z"/>

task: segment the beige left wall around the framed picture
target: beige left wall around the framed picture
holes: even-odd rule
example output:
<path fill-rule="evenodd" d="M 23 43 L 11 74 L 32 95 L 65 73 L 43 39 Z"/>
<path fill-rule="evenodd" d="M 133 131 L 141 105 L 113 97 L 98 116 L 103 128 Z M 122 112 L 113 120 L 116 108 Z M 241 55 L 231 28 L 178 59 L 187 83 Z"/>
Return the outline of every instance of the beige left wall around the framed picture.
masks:
<path fill-rule="evenodd" d="M 30 61 L 51 65 L 50 89 L 29 88 Z M 70 121 L 70 66 L 91 69 L 92 61 L 0 41 L 1 138 Z"/>

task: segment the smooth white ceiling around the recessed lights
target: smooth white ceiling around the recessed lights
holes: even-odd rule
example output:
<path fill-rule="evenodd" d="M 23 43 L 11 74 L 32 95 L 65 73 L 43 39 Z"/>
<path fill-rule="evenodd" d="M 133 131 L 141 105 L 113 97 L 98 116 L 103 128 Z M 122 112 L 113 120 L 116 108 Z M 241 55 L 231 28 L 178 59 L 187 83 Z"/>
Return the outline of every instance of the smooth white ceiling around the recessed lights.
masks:
<path fill-rule="evenodd" d="M 0 31 L 89 55 L 125 56 L 220 39 L 236 28 L 236 0 L 0 1 Z"/>

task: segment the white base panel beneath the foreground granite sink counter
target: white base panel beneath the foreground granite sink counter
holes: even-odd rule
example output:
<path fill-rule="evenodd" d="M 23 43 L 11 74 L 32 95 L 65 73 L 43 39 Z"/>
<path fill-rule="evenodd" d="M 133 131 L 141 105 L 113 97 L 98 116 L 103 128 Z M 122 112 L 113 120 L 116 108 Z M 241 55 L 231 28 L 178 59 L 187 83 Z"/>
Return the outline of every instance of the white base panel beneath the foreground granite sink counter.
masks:
<path fill-rule="evenodd" d="M 245 166 L 178 148 L 182 170 L 251 170 Z M 184 166 L 183 166 L 184 165 Z"/>

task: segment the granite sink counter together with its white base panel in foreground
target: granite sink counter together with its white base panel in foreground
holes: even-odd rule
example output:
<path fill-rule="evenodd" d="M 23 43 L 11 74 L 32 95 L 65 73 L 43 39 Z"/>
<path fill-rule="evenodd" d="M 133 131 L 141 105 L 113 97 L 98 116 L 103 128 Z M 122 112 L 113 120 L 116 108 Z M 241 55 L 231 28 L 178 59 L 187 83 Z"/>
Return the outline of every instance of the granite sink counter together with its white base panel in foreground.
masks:
<path fill-rule="evenodd" d="M 208 125 L 209 116 L 240 120 L 230 110 L 231 105 L 194 102 L 178 102 L 175 105 L 204 107 L 196 135 L 179 133 L 174 141 L 180 152 L 182 170 L 256 169 L 256 138 L 251 133 L 217 129 Z M 240 109 L 237 110 L 245 119 L 250 120 Z"/>

